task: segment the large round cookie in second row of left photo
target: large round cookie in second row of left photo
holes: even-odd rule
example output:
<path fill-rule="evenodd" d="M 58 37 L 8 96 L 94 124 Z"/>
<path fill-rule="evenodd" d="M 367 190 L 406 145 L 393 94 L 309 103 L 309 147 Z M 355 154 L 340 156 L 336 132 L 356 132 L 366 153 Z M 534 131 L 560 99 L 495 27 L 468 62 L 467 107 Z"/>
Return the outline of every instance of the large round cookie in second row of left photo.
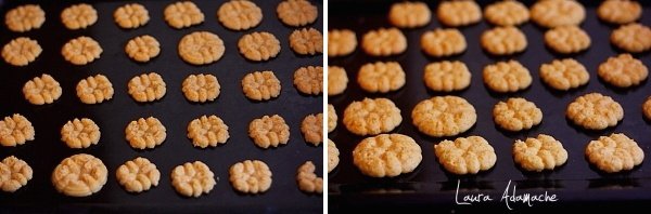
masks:
<path fill-rule="evenodd" d="M 219 36 L 208 31 L 195 31 L 179 41 L 179 56 L 192 65 L 207 65 L 219 61 L 226 48 Z"/>

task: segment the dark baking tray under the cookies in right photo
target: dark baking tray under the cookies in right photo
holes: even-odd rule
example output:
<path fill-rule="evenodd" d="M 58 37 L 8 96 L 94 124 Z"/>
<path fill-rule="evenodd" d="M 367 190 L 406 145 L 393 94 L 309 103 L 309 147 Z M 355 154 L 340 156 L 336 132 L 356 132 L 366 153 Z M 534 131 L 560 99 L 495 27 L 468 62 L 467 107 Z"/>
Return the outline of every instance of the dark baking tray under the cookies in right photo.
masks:
<path fill-rule="evenodd" d="M 380 27 L 391 27 L 387 22 L 387 12 L 394 1 L 330 1 L 329 29 L 347 28 L 357 34 L 358 40 L 365 32 Z M 435 13 L 438 1 L 426 1 Z M 493 1 L 478 1 L 482 9 Z M 524 1 L 531 6 L 535 1 Z M 434 58 L 426 56 L 420 49 L 420 36 L 426 30 L 432 30 L 442 25 L 433 14 L 432 22 L 422 28 L 404 29 L 408 40 L 405 53 L 390 57 L 373 57 L 357 50 L 344 57 L 329 57 L 330 66 L 341 66 L 348 72 L 348 88 L 345 93 L 329 96 L 328 101 L 334 105 L 340 121 L 335 131 L 329 138 L 336 143 L 341 152 L 339 166 L 329 173 L 329 208 L 331 211 L 345 211 L 348 209 L 388 209 L 388 208 L 419 208 L 435 206 L 441 210 L 459 210 L 468 208 L 496 208 L 498 211 L 508 211 L 503 202 L 499 202 L 509 180 L 518 185 L 518 190 L 525 192 L 556 193 L 560 200 L 554 203 L 535 203 L 534 208 L 557 208 L 564 205 L 584 205 L 593 202 L 609 201 L 629 204 L 633 202 L 651 200 L 651 123 L 642 117 L 641 105 L 651 95 L 651 84 L 644 81 L 639 86 L 620 90 L 609 86 L 597 76 L 597 67 L 608 57 L 620 53 L 610 44 L 610 32 L 616 26 L 600 22 L 596 15 L 599 1 L 580 1 L 586 8 L 586 21 L 580 25 L 591 37 L 591 46 L 579 54 L 557 55 L 545 46 L 545 29 L 529 22 L 520 27 L 526 35 L 528 46 L 526 51 L 512 57 L 495 57 L 487 55 L 480 45 L 480 35 L 490 27 L 485 21 L 480 24 L 461 27 L 465 36 L 468 49 L 464 53 L 447 57 Z M 640 22 L 651 25 L 651 2 L 639 1 L 643 4 L 643 14 Z M 363 9 L 363 10 L 360 10 Z M 590 73 L 587 85 L 570 92 L 557 92 L 546 86 L 539 76 L 538 68 L 542 63 L 554 58 L 574 57 L 585 65 Z M 651 66 L 649 52 L 636 54 L 647 66 Z M 533 76 L 532 85 L 521 92 L 497 94 L 490 92 L 483 83 L 482 70 L 484 66 L 509 58 L 518 59 L 527 67 Z M 455 93 L 436 93 L 429 91 L 422 80 L 423 69 L 426 64 L 441 61 L 462 61 L 472 72 L 472 83 L 469 89 Z M 392 93 L 372 94 L 363 92 L 357 84 L 357 71 L 361 65 L 376 61 L 399 62 L 407 73 L 406 85 Z M 565 119 L 566 106 L 577 96 L 589 92 L 599 92 L 612 96 L 625 109 L 624 120 L 615 128 L 604 131 L 591 132 L 577 128 Z M 421 101 L 436 95 L 458 95 L 468 99 L 477 111 L 477 122 L 468 132 L 456 137 L 481 135 L 495 148 L 497 163 L 487 171 L 473 176 L 456 176 L 446 173 L 434 156 L 433 146 L 443 139 L 456 137 L 434 138 L 420 133 L 411 123 L 411 110 Z M 493 107 L 499 101 L 508 97 L 521 96 L 534 102 L 544 113 L 542 122 L 523 132 L 506 132 L 499 130 L 493 121 Z M 392 133 L 406 134 L 416 139 L 422 148 L 423 160 L 412 173 L 394 178 L 371 178 L 363 176 L 352 161 L 352 150 L 365 137 L 352 134 L 341 122 L 344 109 L 353 101 L 363 97 L 387 97 L 401 110 L 403 123 Z M 584 149 L 589 141 L 610 133 L 625 133 L 634 138 L 644 150 L 647 160 L 638 168 L 618 174 L 603 174 L 590 166 L 585 159 Z M 539 133 L 550 134 L 563 143 L 569 152 L 566 164 L 552 171 L 542 173 L 525 173 L 518 169 L 511 155 L 511 145 L 515 139 L 535 137 Z M 475 203 L 474 206 L 456 205 L 455 195 L 458 182 L 460 183 L 459 196 L 469 193 L 490 195 L 493 202 Z M 511 206 L 524 209 L 527 205 L 518 203 Z M 641 205 L 640 203 L 635 203 Z M 648 203 L 646 203 L 648 204 Z M 595 208 L 595 206 L 586 206 Z M 585 209 L 585 208 L 584 208 Z M 526 210 L 532 211 L 532 209 Z"/>

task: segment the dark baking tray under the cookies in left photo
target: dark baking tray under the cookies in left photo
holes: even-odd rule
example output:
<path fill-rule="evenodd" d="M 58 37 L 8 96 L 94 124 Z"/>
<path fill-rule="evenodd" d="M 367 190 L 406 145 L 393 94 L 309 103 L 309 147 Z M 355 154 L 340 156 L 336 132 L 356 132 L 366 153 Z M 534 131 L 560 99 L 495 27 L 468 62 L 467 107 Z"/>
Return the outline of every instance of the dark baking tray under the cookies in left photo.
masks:
<path fill-rule="evenodd" d="M 22 113 L 36 129 L 36 141 L 14 148 L 0 148 L 0 157 L 16 156 L 34 170 L 34 178 L 27 186 L 14 193 L 0 192 L 0 213 L 3 211 L 46 211 L 46 212 L 140 212 L 156 211 L 166 213 L 192 212 L 317 212 L 322 210 L 323 197 L 306 195 L 296 186 L 296 169 L 305 161 L 317 165 L 321 175 L 322 146 L 306 144 L 301 133 L 301 122 L 308 113 L 322 111 L 323 96 L 299 94 L 293 86 L 293 73 L 298 67 L 322 65 L 322 55 L 298 56 L 290 49 L 289 36 L 294 28 L 284 26 L 276 15 L 280 0 L 256 1 L 263 9 L 264 18 L 259 26 L 246 31 L 230 31 L 217 21 L 217 9 L 225 1 L 195 0 L 205 15 L 203 24 L 184 29 L 174 29 L 163 19 L 164 8 L 174 2 L 139 1 L 150 13 L 150 22 L 138 29 L 123 30 L 113 21 L 116 8 L 131 1 L 91 1 L 98 11 L 98 22 L 87 29 L 68 30 L 60 21 L 61 11 L 81 1 L 4 1 L 4 14 L 20 4 L 38 3 L 46 11 L 46 23 L 38 30 L 24 34 L 9 31 L 0 27 L 0 43 L 5 44 L 16 37 L 38 40 L 42 54 L 28 66 L 14 67 L 0 62 L 0 116 Z M 323 3 L 311 1 L 319 8 L 319 18 L 308 27 L 322 29 Z M 226 53 L 218 62 L 207 66 L 192 66 L 183 63 L 177 54 L 178 41 L 184 35 L 197 30 L 217 34 L 225 42 Z M 252 31 L 272 32 L 281 41 L 280 54 L 268 62 L 253 63 L 239 53 L 237 42 L 244 34 Z M 124 52 L 126 42 L 140 35 L 149 34 L 161 43 L 161 55 L 146 64 L 132 62 Z M 69 39 L 90 36 L 104 52 L 100 59 L 86 66 L 74 66 L 61 56 L 61 48 Z M 240 84 L 244 75 L 255 70 L 273 70 L 282 84 L 281 95 L 269 102 L 251 102 L 242 93 Z M 167 83 L 167 94 L 158 102 L 138 104 L 127 93 L 127 82 L 136 75 L 156 71 Z M 22 95 L 23 84 L 41 73 L 52 75 L 62 85 L 63 95 L 53 104 L 34 106 Z M 221 94 L 212 103 L 193 104 L 186 101 L 181 82 L 191 73 L 213 73 L 219 79 Z M 103 73 L 115 89 L 113 99 L 99 105 L 85 105 L 76 96 L 77 82 L 91 75 Z M 281 115 L 290 125 L 290 142 L 275 149 L 259 149 L 248 138 L 248 122 L 264 115 Z M 226 145 L 216 148 L 199 149 L 186 137 L 188 123 L 202 115 L 217 115 L 229 125 L 230 138 Z M 154 116 L 167 128 L 167 139 L 154 149 L 132 149 L 125 139 L 125 128 L 129 121 L 140 117 Z M 87 149 L 71 149 L 60 141 L 60 129 L 73 118 L 88 117 L 94 120 L 102 131 L 98 145 Z M 86 198 L 71 198 L 58 193 L 50 176 L 55 165 L 75 153 L 91 153 L 104 162 L 108 169 L 106 185 L 95 195 Z M 125 191 L 115 179 L 115 170 L 136 157 L 145 157 L 161 171 L 157 187 L 131 195 Z M 228 180 L 231 164 L 245 160 L 265 161 L 273 173 L 271 188 L 259 196 L 240 195 Z M 176 165 L 201 160 L 215 173 L 218 180 L 215 188 L 200 198 L 184 198 L 177 195 L 169 174 Z"/>

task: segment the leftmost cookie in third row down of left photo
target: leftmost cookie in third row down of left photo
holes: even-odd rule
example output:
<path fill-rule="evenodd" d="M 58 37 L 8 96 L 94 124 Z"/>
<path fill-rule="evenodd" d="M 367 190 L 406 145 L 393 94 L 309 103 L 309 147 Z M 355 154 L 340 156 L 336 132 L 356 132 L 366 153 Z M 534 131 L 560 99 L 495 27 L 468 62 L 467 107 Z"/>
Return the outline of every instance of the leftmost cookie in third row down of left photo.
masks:
<path fill-rule="evenodd" d="M 23 86 L 23 95 L 30 104 L 52 104 L 61 97 L 63 90 L 52 76 L 47 73 L 27 81 Z"/>

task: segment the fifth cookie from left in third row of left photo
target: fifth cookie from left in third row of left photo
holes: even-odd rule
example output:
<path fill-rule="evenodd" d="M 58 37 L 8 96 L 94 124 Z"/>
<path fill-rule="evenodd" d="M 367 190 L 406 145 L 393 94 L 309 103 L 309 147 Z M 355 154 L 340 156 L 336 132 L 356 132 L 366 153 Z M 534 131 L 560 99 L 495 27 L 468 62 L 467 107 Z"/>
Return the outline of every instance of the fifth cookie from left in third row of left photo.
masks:
<path fill-rule="evenodd" d="M 280 80 L 273 71 L 255 71 L 242 78 L 242 91 L 253 101 L 269 101 L 280 95 Z"/>

